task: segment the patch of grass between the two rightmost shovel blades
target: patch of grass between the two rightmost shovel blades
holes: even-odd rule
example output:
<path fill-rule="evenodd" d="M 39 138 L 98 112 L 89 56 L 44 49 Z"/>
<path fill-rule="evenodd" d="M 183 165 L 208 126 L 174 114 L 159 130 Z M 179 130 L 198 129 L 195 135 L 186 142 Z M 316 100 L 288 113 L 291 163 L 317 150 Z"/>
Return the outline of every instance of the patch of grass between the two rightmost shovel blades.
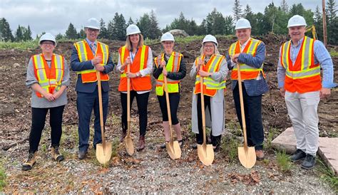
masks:
<path fill-rule="evenodd" d="M 238 147 L 238 142 L 237 139 L 234 137 L 222 137 L 222 142 L 221 142 L 221 150 L 222 153 L 225 153 L 227 157 L 229 157 L 229 162 L 236 162 L 237 160 L 237 147 Z"/>

